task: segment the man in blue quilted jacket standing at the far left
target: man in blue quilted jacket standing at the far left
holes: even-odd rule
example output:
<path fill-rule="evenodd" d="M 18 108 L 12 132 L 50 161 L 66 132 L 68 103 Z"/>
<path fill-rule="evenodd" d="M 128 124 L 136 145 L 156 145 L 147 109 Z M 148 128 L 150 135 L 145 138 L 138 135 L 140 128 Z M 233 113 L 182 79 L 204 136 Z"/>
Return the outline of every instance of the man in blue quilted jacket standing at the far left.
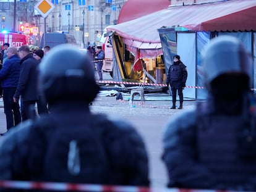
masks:
<path fill-rule="evenodd" d="M 15 47 L 7 49 L 7 57 L 4 66 L 0 70 L 2 81 L 4 113 L 6 114 L 7 131 L 18 125 L 21 121 L 19 99 L 14 102 L 13 97 L 20 77 L 20 58 Z"/>

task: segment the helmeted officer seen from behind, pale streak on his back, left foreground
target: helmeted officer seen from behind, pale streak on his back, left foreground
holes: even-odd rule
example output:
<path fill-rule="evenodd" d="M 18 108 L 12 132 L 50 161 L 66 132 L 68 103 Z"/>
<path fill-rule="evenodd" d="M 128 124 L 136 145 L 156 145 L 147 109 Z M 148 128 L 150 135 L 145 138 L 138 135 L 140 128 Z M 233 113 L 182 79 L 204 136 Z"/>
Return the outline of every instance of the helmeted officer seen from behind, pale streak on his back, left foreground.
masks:
<path fill-rule="evenodd" d="M 135 128 L 90 112 L 100 89 L 91 62 L 71 45 L 42 59 L 38 84 L 51 113 L 2 138 L 0 180 L 150 185 L 147 151 Z"/>

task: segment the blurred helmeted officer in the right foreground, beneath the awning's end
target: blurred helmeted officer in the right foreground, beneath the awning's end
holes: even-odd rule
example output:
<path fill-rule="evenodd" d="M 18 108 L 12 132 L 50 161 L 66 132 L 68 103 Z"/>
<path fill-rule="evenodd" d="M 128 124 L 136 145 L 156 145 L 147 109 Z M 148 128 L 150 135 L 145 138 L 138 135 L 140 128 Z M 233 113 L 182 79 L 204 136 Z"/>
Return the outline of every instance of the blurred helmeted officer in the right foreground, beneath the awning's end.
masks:
<path fill-rule="evenodd" d="M 202 54 L 205 102 L 169 121 L 163 162 L 170 188 L 256 190 L 256 98 L 252 57 L 233 36 L 218 36 Z"/>

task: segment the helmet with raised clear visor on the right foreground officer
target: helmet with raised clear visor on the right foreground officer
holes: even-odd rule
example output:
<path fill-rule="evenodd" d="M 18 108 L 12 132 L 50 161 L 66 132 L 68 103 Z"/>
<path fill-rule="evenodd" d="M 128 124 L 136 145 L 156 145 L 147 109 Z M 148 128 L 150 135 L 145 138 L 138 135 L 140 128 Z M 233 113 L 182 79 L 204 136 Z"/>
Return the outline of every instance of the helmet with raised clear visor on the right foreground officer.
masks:
<path fill-rule="evenodd" d="M 233 36 L 221 35 L 211 40 L 205 47 L 202 61 L 207 88 L 213 80 L 226 73 L 240 73 L 252 80 L 252 57 L 242 42 Z"/>

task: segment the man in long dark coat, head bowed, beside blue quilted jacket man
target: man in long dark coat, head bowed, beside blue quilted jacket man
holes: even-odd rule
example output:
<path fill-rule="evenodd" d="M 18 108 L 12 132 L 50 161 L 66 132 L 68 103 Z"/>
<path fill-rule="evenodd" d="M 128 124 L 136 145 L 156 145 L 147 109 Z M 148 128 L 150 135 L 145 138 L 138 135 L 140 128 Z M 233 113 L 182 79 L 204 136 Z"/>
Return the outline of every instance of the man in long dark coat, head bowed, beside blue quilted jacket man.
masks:
<path fill-rule="evenodd" d="M 17 90 L 14 94 L 14 102 L 17 102 L 21 96 L 21 114 L 22 121 L 35 115 L 35 102 L 38 100 L 38 64 L 39 62 L 30 53 L 27 45 L 19 48 L 20 56 L 20 78 Z"/>

